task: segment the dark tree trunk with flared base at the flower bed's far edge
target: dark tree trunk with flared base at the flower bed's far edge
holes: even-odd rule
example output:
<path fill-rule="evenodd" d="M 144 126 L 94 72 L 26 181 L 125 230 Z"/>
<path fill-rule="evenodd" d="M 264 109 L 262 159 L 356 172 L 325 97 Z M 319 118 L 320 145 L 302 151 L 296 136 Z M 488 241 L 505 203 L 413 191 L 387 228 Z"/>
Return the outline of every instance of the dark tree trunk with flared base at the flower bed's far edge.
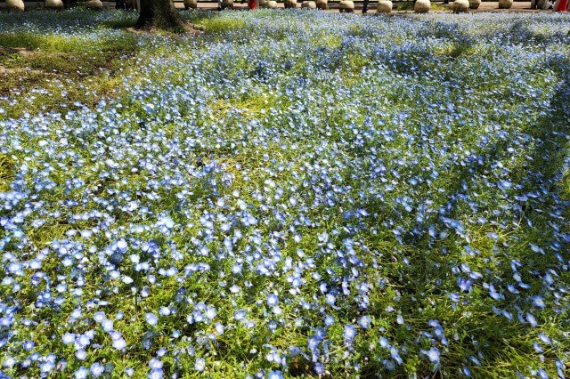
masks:
<path fill-rule="evenodd" d="M 140 12 L 139 20 L 134 26 L 137 29 L 192 29 L 180 17 L 172 0 L 141 0 Z"/>

